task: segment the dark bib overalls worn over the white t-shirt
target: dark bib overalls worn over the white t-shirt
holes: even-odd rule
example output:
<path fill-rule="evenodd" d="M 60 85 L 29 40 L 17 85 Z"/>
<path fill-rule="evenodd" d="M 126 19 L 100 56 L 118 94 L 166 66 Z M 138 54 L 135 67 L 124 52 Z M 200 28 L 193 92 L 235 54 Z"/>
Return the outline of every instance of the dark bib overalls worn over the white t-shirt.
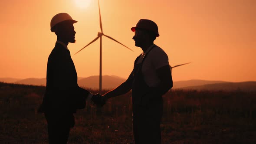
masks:
<path fill-rule="evenodd" d="M 133 134 L 135 144 L 161 144 L 160 122 L 163 115 L 163 99 L 161 95 L 153 94 L 154 89 L 144 81 L 141 68 L 147 53 L 139 64 L 137 64 L 138 56 L 133 69 Z"/>

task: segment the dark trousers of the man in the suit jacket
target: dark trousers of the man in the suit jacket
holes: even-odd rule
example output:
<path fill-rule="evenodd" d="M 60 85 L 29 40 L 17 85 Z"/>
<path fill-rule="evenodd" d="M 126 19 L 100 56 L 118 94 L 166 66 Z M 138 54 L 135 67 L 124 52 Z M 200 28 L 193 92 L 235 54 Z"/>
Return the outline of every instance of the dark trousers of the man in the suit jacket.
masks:
<path fill-rule="evenodd" d="M 66 144 L 70 128 L 74 126 L 73 115 L 45 113 L 45 117 L 48 124 L 49 144 Z"/>

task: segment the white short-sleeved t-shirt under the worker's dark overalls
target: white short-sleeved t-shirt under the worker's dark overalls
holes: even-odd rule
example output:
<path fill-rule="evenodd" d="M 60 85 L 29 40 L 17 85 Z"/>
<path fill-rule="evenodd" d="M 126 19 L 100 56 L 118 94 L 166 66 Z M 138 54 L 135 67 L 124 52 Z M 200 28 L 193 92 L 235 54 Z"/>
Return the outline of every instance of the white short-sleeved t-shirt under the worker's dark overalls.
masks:
<path fill-rule="evenodd" d="M 160 83 L 160 79 L 157 76 L 156 70 L 165 65 L 169 65 L 168 56 L 163 49 L 153 44 L 147 49 L 145 53 L 140 56 L 137 63 L 142 62 L 145 54 L 147 56 L 144 59 L 141 69 L 144 80 L 146 84 L 150 87 L 158 86 L 158 84 Z"/>

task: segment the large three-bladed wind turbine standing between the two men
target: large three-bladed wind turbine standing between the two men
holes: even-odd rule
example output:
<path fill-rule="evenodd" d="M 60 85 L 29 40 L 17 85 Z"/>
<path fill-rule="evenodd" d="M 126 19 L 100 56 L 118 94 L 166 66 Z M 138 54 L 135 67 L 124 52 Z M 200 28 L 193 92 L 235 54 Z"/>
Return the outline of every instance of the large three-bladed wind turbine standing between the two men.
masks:
<path fill-rule="evenodd" d="M 98 11 L 99 11 L 99 26 L 100 26 L 100 29 L 101 29 L 101 32 L 98 32 L 98 36 L 92 40 L 91 43 L 95 42 L 98 38 L 100 38 L 100 53 L 99 53 L 99 92 L 102 91 L 102 36 L 106 36 L 107 38 L 109 39 L 112 39 L 114 40 L 115 42 L 117 43 L 120 43 L 118 42 L 117 40 L 113 39 L 112 37 L 110 36 L 107 36 L 103 33 L 102 31 L 102 19 L 101 19 L 101 14 L 100 14 L 100 8 L 99 8 L 99 0 L 98 0 Z M 85 47 L 89 46 L 91 43 L 89 43 L 88 45 L 86 45 Z M 122 46 L 125 46 L 123 45 L 122 43 L 120 43 Z M 83 47 L 82 49 L 84 49 L 85 47 Z M 128 48 L 127 46 L 125 46 L 127 49 L 130 49 Z M 78 52 L 80 52 L 82 49 L 80 49 Z M 131 50 L 131 49 L 130 49 Z M 131 50 L 133 51 L 133 50 Z M 78 52 L 76 52 L 75 54 L 77 54 Z"/>

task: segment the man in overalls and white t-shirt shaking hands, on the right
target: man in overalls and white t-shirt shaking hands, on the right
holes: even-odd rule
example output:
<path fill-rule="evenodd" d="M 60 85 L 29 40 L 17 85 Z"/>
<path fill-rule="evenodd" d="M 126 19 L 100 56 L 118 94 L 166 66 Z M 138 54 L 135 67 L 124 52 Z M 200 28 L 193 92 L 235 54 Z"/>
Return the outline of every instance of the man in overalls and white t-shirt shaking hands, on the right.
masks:
<path fill-rule="evenodd" d="M 164 95 L 173 85 L 168 56 L 154 44 L 158 26 L 141 19 L 131 30 L 135 46 L 143 52 L 137 57 L 128 79 L 102 95 L 102 101 L 132 90 L 132 124 L 135 144 L 161 144 L 160 122 Z"/>

